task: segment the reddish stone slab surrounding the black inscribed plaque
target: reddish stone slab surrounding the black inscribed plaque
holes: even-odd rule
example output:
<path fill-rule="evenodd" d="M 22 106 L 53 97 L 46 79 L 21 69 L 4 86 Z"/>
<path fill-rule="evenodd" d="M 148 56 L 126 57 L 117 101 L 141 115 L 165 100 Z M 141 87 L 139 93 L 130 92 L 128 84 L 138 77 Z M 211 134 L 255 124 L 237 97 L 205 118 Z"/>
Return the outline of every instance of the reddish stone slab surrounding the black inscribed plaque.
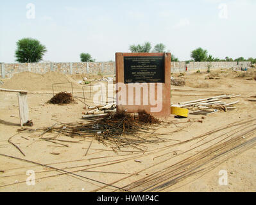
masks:
<path fill-rule="evenodd" d="M 140 57 L 162 57 L 163 59 L 163 81 L 157 82 L 157 79 L 149 79 L 149 81 L 156 81 L 155 83 L 127 83 L 124 81 L 124 58 L 125 57 L 139 57 L 134 58 L 138 67 L 145 66 L 146 69 L 133 69 L 128 70 L 130 73 L 135 73 L 135 81 L 140 77 L 140 73 L 148 78 L 157 76 L 157 69 L 152 64 L 153 69 L 149 68 L 147 64 L 149 58 Z M 129 59 L 129 58 L 126 58 Z M 132 58 L 133 59 L 133 58 Z M 141 60 L 142 59 L 142 60 Z M 146 63 L 144 63 L 144 59 Z M 160 58 L 159 58 L 160 59 Z M 154 62 L 154 60 L 152 60 Z M 162 65 L 162 64 L 160 64 Z M 136 67 L 136 66 L 133 66 Z M 129 67 L 130 68 L 130 67 Z M 127 69 L 127 65 L 126 65 Z M 117 112 L 128 111 L 129 113 L 137 113 L 139 111 L 146 111 L 156 117 L 169 117 L 171 115 L 171 53 L 115 53 L 115 74 L 117 82 Z M 139 70 L 139 71 L 138 71 Z M 152 72 L 151 72 L 152 71 Z M 126 70 L 127 72 L 127 70 Z M 138 74 L 139 73 L 139 74 Z M 151 73 L 154 73 L 151 77 Z M 143 78 L 143 77 L 142 77 Z M 144 79 L 142 79 L 143 81 Z M 127 79 L 126 79 L 127 81 Z M 155 94 L 154 94 L 155 92 Z M 162 95 L 162 97 L 161 97 Z M 155 104 L 157 102 L 157 104 Z"/>

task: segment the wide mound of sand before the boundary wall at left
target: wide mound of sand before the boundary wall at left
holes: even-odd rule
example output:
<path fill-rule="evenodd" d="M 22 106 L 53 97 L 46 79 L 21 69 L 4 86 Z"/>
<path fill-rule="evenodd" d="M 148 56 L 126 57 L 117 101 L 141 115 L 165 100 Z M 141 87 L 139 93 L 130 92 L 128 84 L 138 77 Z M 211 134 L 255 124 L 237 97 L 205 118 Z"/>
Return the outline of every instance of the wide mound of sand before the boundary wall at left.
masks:
<path fill-rule="evenodd" d="M 80 88 L 74 79 L 60 72 L 46 72 L 46 74 L 21 72 L 5 81 L 1 88 L 28 91 L 52 90 L 53 83 L 73 83 L 73 88 Z M 70 91 L 71 85 L 63 85 L 62 88 L 63 91 Z"/>

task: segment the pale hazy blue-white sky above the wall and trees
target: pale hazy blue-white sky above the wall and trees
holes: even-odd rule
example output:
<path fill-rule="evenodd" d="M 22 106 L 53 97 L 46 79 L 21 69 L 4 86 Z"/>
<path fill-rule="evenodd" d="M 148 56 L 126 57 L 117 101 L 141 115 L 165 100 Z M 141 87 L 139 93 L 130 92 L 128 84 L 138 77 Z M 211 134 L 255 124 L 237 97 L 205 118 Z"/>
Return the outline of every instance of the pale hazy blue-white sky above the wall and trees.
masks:
<path fill-rule="evenodd" d="M 115 60 L 145 41 L 165 44 L 179 60 L 197 47 L 218 58 L 256 58 L 255 11 L 255 0 L 1 0 L 0 61 L 14 62 L 24 37 L 40 40 L 44 60 L 58 62 L 80 61 L 80 53 Z"/>

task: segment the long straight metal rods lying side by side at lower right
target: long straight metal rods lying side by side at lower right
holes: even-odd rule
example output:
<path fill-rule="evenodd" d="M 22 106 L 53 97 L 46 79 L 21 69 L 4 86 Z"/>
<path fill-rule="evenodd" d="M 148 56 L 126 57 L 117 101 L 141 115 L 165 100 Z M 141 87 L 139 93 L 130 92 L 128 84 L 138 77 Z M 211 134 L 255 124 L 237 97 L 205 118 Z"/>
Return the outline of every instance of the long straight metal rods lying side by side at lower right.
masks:
<path fill-rule="evenodd" d="M 255 121 L 255 119 L 253 119 L 253 121 Z M 237 124 L 237 126 L 241 126 L 241 124 Z M 227 129 L 227 127 L 228 126 L 223 129 Z M 255 126 L 246 127 L 246 129 L 245 127 L 242 127 L 239 130 L 234 129 L 232 130 L 232 133 L 227 132 L 224 134 L 224 138 L 223 133 L 219 133 L 219 131 L 223 129 L 214 130 L 206 134 L 206 136 L 209 136 L 213 133 L 218 133 L 217 136 L 214 136 L 216 142 L 209 145 L 209 147 L 203 148 L 195 154 L 191 154 L 191 156 L 186 157 L 184 160 L 179 161 L 174 165 L 162 170 L 155 170 L 155 172 L 150 175 L 141 177 L 141 179 L 133 181 L 122 188 L 129 190 L 130 192 L 169 192 L 171 186 L 178 182 L 191 176 L 198 176 L 198 174 L 203 176 L 203 174 L 210 172 L 210 170 L 213 170 L 219 164 L 232 158 L 232 156 L 255 147 Z M 203 139 L 197 142 L 200 144 L 196 147 L 192 147 L 190 151 L 198 149 L 198 147 L 213 141 L 212 139 L 207 139 L 207 142 L 205 142 L 203 140 L 205 140 L 206 137 L 205 135 L 203 136 Z M 196 138 L 193 138 L 192 140 L 195 139 Z M 188 143 L 187 140 L 184 142 Z M 169 152 L 166 154 L 169 154 Z"/>

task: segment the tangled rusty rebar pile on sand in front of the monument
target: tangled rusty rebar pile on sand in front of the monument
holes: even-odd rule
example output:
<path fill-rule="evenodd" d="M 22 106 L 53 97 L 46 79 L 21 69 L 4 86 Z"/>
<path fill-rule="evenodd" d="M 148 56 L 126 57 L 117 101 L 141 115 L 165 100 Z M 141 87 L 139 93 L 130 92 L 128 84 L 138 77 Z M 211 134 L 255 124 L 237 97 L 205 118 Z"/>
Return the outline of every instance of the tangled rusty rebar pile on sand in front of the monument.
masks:
<path fill-rule="evenodd" d="M 142 144 L 164 142 L 150 131 L 156 124 L 160 124 L 160 121 L 144 112 L 139 113 L 138 117 L 129 113 L 116 113 L 90 120 L 87 123 L 62 124 L 60 127 L 51 127 L 44 131 L 54 131 L 58 135 L 62 134 L 71 138 L 96 138 L 104 145 L 110 145 L 113 151 L 121 150 L 124 147 L 146 151 L 148 147 Z M 139 136 L 142 133 L 144 138 Z"/>

